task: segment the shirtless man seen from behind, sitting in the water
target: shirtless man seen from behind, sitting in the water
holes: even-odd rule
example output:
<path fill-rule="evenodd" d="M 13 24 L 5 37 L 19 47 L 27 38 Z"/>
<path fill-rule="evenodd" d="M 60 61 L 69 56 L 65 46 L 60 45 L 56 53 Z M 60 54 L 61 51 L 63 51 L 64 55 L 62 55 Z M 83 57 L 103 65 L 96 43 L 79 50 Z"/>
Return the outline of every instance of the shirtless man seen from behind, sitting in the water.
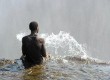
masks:
<path fill-rule="evenodd" d="M 31 22 L 29 24 L 31 34 L 22 38 L 22 62 L 24 67 L 30 68 L 35 65 L 42 64 L 43 57 L 46 58 L 46 49 L 44 46 L 44 40 L 38 37 L 38 23 Z"/>

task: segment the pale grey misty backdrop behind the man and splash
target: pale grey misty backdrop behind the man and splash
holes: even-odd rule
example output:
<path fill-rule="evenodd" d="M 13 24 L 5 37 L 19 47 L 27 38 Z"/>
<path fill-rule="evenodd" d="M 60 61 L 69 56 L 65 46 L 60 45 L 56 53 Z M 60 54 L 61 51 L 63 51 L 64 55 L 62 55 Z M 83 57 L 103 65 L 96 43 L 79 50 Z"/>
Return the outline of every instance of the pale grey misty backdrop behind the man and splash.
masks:
<path fill-rule="evenodd" d="M 109 0 L 0 0 L 0 58 L 19 58 L 16 34 L 37 21 L 40 33 L 69 32 L 88 55 L 109 61 L 109 13 Z"/>

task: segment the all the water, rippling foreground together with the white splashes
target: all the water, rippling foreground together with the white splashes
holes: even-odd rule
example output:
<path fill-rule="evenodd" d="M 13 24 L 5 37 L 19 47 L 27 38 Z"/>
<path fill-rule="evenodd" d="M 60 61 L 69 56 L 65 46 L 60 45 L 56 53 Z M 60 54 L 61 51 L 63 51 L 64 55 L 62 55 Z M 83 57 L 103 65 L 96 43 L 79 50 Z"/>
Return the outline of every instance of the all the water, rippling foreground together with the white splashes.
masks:
<path fill-rule="evenodd" d="M 24 35 L 19 33 L 16 37 L 21 41 Z M 110 80 L 110 63 L 90 57 L 87 46 L 79 44 L 69 33 L 60 31 L 39 36 L 45 39 L 51 58 L 27 70 L 19 59 L 2 64 L 1 80 Z"/>

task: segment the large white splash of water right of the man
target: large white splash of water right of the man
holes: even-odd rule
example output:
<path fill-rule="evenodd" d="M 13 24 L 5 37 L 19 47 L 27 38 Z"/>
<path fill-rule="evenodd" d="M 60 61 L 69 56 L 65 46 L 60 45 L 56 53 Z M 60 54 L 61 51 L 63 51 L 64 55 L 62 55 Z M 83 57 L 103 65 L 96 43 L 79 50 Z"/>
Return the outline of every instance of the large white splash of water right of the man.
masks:
<path fill-rule="evenodd" d="M 45 34 L 41 34 L 45 35 Z M 46 47 L 55 49 L 55 54 L 63 55 L 80 55 L 82 58 L 87 58 L 85 48 L 79 44 L 74 37 L 69 33 L 60 31 L 59 34 L 50 34 L 43 37 L 45 39 Z"/>

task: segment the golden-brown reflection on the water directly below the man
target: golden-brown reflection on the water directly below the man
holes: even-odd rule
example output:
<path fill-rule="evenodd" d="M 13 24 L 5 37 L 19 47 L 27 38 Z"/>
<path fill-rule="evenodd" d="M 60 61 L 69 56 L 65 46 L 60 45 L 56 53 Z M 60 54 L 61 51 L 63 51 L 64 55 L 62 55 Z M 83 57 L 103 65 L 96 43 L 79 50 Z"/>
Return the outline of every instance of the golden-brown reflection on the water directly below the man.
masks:
<path fill-rule="evenodd" d="M 45 69 L 43 65 L 37 65 L 23 72 L 23 80 L 44 80 Z"/>

